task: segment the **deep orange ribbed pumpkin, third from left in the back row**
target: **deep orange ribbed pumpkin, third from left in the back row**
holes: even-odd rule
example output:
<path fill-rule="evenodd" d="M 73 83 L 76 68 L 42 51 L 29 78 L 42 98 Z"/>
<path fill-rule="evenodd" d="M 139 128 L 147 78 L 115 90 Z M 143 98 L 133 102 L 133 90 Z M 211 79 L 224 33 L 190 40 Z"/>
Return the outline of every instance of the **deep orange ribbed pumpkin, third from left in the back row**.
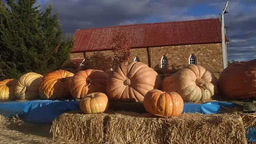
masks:
<path fill-rule="evenodd" d="M 74 74 L 66 70 L 56 70 L 44 76 L 40 82 L 39 94 L 42 99 L 69 98 L 68 85 Z"/>

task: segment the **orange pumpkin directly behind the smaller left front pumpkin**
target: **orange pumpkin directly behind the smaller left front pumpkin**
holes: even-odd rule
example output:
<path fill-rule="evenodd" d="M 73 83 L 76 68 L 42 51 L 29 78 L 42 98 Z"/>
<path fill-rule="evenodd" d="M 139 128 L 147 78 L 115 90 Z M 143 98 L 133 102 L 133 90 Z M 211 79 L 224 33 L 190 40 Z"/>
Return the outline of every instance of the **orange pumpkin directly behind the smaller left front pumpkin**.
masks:
<path fill-rule="evenodd" d="M 101 70 L 81 70 L 70 82 L 69 90 L 74 98 L 80 99 L 92 92 L 106 93 L 109 75 Z"/>

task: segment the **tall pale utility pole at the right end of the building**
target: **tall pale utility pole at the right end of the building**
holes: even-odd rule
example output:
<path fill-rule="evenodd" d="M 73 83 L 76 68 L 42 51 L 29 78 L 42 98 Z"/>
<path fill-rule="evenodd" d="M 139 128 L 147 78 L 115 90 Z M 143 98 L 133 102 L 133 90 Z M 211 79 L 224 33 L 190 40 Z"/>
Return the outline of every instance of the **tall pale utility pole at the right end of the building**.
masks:
<path fill-rule="evenodd" d="M 224 27 L 224 14 L 228 13 L 228 1 L 222 11 L 221 15 L 221 37 L 222 37 L 222 58 L 223 58 L 223 69 L 228 66 L 227 47 L 225 42 L 225 27 Z"/>

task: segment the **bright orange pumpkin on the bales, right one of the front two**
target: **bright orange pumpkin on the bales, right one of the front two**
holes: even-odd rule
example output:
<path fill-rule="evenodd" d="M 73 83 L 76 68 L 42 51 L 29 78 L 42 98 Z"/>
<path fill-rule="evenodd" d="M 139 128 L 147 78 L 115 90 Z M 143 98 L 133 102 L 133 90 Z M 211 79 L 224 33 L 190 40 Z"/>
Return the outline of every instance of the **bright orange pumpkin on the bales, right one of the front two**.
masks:
<path fill-rule="evenodd" d="M 176 92 L 162 92 L 154 89 L 146 94 L 143 105 L 150 114 L 170 117 L 182 113 L 184 102 Z"/>

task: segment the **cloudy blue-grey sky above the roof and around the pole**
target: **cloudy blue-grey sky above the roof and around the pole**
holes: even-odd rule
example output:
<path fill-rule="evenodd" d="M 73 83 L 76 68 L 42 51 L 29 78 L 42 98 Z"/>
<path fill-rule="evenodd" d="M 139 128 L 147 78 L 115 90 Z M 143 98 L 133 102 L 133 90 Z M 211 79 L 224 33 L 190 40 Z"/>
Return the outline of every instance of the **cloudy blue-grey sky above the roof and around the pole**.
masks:
<path fill-rule="evenodd" d="M 219 18 L 226 0 L 37 0 L 53 4 L 64 33 L 76 29 Z M 256 58 L 256 0 L 230 0 L 224 15 L 228 60 Z"/>

